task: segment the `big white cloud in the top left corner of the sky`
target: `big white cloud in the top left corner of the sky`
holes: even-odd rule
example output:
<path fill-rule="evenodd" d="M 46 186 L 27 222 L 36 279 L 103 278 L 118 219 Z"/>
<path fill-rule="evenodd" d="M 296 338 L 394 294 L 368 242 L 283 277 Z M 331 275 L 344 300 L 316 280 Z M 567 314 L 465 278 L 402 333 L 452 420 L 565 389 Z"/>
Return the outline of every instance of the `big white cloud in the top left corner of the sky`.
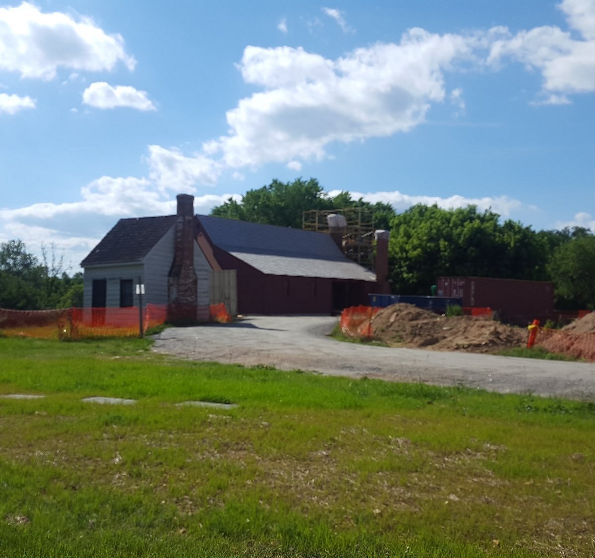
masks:
<path fill-rule="evenodd" d="M 120 35 L 108 35 L 90 18 L 43 13 L 29 2 L 0 8 L 0 70 L 49 80 L 60 67 L 104 71 L 118 62 L 130 70 L 136 63 Z"/>

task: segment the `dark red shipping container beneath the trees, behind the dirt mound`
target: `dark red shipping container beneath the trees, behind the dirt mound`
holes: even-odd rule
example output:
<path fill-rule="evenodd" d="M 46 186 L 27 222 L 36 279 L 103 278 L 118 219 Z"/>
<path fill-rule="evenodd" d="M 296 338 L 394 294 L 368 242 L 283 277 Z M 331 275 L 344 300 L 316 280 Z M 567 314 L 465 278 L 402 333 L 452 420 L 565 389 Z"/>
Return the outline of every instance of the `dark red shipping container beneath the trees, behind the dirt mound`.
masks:
<path fill-rule="evenodd" d="M 463 306 L 489 306 L 500 318 L 517 324 L 552 318 L 554 284 L 493 277 L 439 277 L 438 296 L 456 296 Z"/>

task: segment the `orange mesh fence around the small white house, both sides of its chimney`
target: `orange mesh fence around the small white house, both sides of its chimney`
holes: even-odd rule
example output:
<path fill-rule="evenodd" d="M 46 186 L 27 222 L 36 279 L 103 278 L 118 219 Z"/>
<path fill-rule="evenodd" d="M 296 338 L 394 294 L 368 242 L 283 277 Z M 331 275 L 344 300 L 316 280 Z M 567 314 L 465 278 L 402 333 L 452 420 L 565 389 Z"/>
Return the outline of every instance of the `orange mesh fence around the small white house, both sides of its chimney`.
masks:
<path fill-rule="evenodd" d="M 164 324 L 167 305 L 148 304 L 142 310 L 142 329 Z M 212 321 L 232 321 L 224 304 L 210 307 Z M 80 339 L 86 337 L 136 337 L 140 333 L 137 306 L 128 308 L 63 308 L 57 310 L 7 310 L 0 308 L 0 334 L 5 337 Z"/>

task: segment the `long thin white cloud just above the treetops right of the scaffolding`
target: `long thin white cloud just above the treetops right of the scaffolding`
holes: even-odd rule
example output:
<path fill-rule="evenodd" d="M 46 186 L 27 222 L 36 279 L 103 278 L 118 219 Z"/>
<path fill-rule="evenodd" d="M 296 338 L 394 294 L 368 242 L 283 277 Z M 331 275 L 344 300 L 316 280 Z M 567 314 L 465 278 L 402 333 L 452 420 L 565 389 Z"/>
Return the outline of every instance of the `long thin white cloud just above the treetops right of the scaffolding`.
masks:
<path fill-rule="evenodd" d="M 340 193 L 341 190 L 331 190 L 328 194 L 330 196 L 337 196 Z M 502 217 L 509 217 L 512 212 L 518 211 L 523 207 L 519 200 L 509 198 L 508 196 L 497 196 L 496 198 L 491 196 L 484 198 L 464 198 L 464 196 L 454 195 L 448 198 L 441 198 L 440 196 L 411 196 L 403 194 L 399 190 L 372 193 L 350 192 L 350 194 L 354 199 L 364 198 L 364 201 L 370 203 L 390 203 L 396 211 L 403 211 L 417 203 L 423 203 L 424 205 L 434 205 L 436 203 L 437 206 L 443 209 L 456 209 L 468 205 L 477 205 L 477 208 L 481 211 L 491 209 L 491 211 L 502 215 Z"/>

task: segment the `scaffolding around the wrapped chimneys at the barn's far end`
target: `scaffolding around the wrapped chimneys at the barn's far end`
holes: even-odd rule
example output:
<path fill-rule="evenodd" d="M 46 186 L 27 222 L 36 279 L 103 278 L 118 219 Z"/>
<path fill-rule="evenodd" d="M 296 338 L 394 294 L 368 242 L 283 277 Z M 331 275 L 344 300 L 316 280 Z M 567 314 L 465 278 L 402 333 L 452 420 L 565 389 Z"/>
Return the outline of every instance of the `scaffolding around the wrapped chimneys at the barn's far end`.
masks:
<path fill-rule="evenodd" d="M 366 268 L 374 268 L 374 215 L 371 209 L 311 209 L 302 214 L 302 228 L 318 233 L 330 233 L 327 215 L 333 214 L 343 215 L 347 221 L 347 228 L 343 233 L 343 252 L 347 258 Z"/>

